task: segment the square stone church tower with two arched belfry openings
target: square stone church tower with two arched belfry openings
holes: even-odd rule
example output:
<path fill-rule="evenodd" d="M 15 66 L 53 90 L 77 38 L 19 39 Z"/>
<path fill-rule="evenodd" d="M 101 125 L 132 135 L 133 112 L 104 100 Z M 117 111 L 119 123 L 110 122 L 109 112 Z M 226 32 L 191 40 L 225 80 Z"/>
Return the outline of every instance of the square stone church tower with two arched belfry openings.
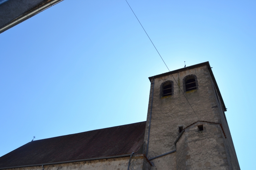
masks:
<path fill-rule="evenodd" d="M 209 62 L 149 80 L 143 153 L 151 170 L 240 170 Z"/>

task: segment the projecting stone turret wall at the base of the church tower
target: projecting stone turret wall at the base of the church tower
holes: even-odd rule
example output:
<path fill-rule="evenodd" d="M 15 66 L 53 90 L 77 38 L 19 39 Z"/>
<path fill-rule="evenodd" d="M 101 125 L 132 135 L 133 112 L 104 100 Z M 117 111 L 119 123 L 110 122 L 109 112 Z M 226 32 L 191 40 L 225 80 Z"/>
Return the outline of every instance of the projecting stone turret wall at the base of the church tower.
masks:
<path fill-rule="evenodd" d="M 198 121 L 186 128 L 176 143 L 177 170 L 228 170 L 223 132 L 219 123 Z"/>

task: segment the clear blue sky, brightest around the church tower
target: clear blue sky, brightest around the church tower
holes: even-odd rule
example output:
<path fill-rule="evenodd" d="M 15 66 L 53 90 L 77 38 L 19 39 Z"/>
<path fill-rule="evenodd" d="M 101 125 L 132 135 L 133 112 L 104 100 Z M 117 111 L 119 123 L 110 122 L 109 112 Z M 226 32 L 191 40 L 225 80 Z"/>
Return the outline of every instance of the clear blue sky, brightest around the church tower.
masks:
<path fill-rule="evenodd" d="M 241 169 L 254 169 L 256 1 L 128 0 L 170 70 L 209 61 Z M 167 68 L 125 0 L 65 0 L 0 34 L 0 156 L 145 121 Z"/>

